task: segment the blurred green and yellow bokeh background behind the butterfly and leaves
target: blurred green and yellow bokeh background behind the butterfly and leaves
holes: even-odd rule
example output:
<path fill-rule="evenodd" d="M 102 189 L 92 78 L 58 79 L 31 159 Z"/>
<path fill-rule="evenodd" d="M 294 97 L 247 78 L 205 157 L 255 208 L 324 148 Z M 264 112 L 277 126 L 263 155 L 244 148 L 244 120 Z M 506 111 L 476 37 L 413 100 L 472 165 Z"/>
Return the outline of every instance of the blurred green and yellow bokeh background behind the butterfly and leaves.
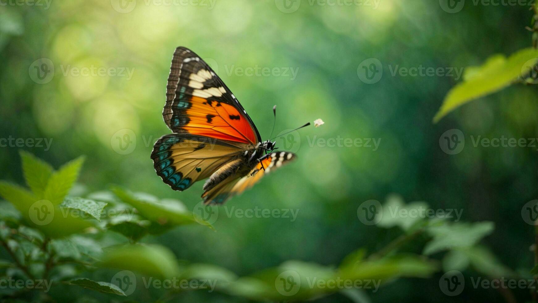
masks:
<path fill-rule="evenodd" d="M 384 201 L 398 193 L 406 201 L 428 201 L 434 209 L 463 209 L 465 221 L 495 222 L 485 244 L 515 270 L 533 264 L 528 249 L 533 227 L 522 220 L 521 207 L 537 196 L 536 147 L 475 147 L 470 136 L 536 138 L 536 87 L 505 89 L 433 124 L 445 94 L 461 79 L 391 73 L 396 66 L 460 69 L 480 65 L 494 53 L 529 47 L 529 6 L 468 1 L 461 11 L 449 13 L 438 1 L 404 0 L 351 5 L 307 0 L 2 3 L 0 138 L 52 143 L 49 149 L 44 143 L 0 147 L 1 179 L 23 182 L 20 148 L 56 167 L 85 154 L 79 182 L 88 191 L 119 184 L 194 208 L 202 182 L 174 192 L 155 174 L 150 159 L 155 140 L 170 132 L 161 112 L 172 54 L 186 46 L 213 66 L 264 140 L 271 132 L 274 104 L 275 133 L 317 118 L 325 124 L 280 138 L 278 146 L 296 152 L 298 160 L 226 204 L 228 211 L 294 209 L 295 221 L 227 216 L 222 208 L 217 232 L 184 227 L 146 242 L 161 243 L 180 259 L 221 265 L 240 275 L 288 259 L 338 264 L 357 248 L 376 251 L 398 235 L 366 226 L 357 217 L 363 201 Z M 383 76 L 372 84 L 359 77 L 361 63 L 369 58 L 383 66 Z M 257 67 L 279 73 L 241 72 Z M 80 68 L 107 72 L 73 72 Z M 134 146 L 122 154 L 118 137 L 125 129 L 134 133 L 129 138 Z M 461 130 L 468 140 L 455 155 L 439 144 L 450 129 Z M 309 144 L 338 137 L 381 141 L 375 151 Z M 441 274 L 395 281 L 371 293 L 371 299 L 450 301 L 439 290 Z M 73 294 L 58 295 L 70 300 Z M 241 300 L 197 292 L 183 298 Z M 471 288 L 458 299 L 502 298 L 494 290 Z M 334 294 L 320 302 L 350 300 Z"/>

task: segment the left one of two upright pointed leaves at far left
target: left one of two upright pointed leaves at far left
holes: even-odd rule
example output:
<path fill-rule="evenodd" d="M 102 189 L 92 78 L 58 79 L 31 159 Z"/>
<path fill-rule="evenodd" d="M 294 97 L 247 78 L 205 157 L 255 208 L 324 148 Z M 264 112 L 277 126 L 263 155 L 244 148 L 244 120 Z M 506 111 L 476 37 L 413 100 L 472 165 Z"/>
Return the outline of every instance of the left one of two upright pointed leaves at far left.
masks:
<path fill-rule="evenodd" d="M 54 172 L 52 166 L 26 151 L 20 151 L 20 158 L 26 184 L 36 196 L 43 198 L 48 179 Z"/>

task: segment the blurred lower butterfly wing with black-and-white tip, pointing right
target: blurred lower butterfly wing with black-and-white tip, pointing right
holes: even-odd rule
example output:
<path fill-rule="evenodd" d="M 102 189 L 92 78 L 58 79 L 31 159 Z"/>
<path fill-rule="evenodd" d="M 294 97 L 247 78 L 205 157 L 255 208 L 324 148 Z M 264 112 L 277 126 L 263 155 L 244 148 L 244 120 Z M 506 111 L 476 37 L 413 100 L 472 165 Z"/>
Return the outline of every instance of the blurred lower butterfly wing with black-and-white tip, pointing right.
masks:
<path fill-rule="evenodd" d="M 205 203 L 224 203 L 232 196 L 254 186 L 266 173 L 295 158 L 295 154 L 291 152 L 272 152 L 244 177 L 230 176 L 209 191 L 204 192 L 202 198 L 204 198 Z"/>

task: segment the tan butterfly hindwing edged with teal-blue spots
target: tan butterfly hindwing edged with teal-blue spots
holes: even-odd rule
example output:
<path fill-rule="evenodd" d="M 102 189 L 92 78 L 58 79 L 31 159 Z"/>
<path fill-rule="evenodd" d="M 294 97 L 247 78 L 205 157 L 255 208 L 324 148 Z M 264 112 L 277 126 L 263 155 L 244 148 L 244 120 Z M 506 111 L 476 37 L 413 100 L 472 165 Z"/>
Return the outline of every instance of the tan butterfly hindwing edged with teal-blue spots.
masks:
<path fill-rule="evenodd" d="M 218 139 L 172 133 L 155 143 L 151 158 L 162 181 L 175 191 L 184 191 L 241 152 L 236 145 Z"/>

